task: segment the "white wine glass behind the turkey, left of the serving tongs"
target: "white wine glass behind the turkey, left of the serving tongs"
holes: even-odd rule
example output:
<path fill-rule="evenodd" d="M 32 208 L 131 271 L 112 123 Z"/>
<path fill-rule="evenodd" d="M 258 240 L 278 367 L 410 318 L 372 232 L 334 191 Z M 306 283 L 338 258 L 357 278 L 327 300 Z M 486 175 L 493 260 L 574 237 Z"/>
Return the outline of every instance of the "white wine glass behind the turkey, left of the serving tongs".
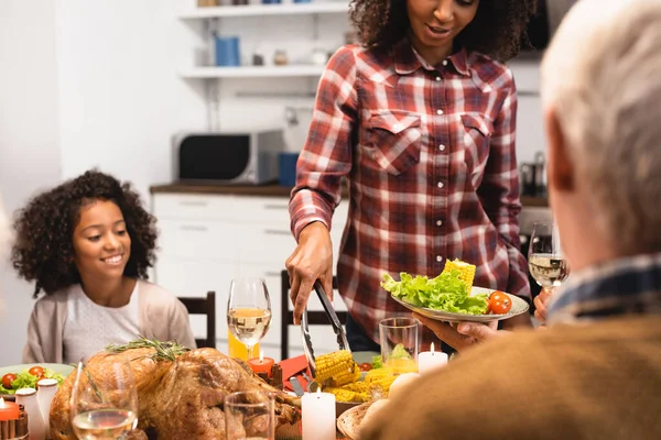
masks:
<path fill-rule="evenodd" d="M 227 300 L 227 327 L 248 349 L 267 334 L 271 324 L 271 298 L 262 278 L 235 278 L 229 286 Z"/>

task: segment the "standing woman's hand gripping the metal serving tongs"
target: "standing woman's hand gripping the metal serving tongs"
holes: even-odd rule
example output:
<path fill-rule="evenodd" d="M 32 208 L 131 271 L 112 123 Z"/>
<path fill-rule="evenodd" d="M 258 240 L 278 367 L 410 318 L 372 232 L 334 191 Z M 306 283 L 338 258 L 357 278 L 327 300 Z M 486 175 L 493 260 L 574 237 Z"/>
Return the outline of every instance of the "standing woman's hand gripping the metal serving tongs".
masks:
<path fill-rule="evenodd" d="M 299 235 L 299 245 L 284 265 L 290 275 L 290 298 L 294 305 L 294 323 L 297 324 L 314 282 L 319 279 L 328 299 L 333 300 L 333 244 L 326 226 L 319 221 L 306 226 Z"/>

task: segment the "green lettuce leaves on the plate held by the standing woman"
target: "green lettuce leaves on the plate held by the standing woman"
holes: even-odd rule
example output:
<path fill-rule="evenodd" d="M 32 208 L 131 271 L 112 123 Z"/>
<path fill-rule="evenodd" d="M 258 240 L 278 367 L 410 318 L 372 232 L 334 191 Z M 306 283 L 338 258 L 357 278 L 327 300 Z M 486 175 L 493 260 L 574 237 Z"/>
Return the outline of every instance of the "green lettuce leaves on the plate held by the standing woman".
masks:
<path fill-rule="evenodd" d="M 413 306 L 453 314 L 485 315 L 488 310 L 487 295 L 469 296 L 459 275 L 459 271 L 449 271 L 430 279 L 402 272 L 398 282 L 383 274 L 381 287 Z"/>

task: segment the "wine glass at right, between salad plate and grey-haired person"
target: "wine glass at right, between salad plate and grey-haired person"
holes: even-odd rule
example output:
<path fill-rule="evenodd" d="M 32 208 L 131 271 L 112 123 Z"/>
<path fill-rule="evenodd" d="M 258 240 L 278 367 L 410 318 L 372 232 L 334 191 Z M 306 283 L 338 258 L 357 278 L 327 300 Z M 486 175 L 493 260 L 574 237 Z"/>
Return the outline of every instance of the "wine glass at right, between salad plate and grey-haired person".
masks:
<path fill-rule="evenodd" d="M 528 268 L 551 294 L 570 275 L 555 223 L 534 223 L 528 249 Z"/>

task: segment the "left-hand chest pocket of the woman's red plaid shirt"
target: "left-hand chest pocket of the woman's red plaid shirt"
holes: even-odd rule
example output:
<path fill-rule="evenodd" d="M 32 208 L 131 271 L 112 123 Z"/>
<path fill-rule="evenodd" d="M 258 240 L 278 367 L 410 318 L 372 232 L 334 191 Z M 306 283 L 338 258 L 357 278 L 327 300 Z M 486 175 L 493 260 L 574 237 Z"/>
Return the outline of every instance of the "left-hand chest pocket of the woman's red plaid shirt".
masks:
<path fill-rule="evenodd" d="M 420 114 L 408 111 L 372 113 L 368 122 L 365 164 L 400 175 L 420 162 Z"/>

